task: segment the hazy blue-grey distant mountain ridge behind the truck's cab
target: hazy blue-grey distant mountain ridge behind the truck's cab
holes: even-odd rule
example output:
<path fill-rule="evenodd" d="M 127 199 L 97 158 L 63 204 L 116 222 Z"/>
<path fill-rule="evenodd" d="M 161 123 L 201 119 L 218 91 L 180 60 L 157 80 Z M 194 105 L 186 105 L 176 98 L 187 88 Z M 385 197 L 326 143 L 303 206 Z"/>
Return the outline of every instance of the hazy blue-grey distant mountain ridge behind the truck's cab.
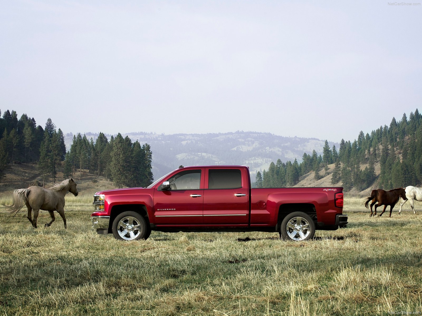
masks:
<path fill-rule="evenodd" d="M 77 135 L 77 133 L 76 133 Z M 83 135 L 81 133 L 81 135 Z M 95 140 L 98 133 L 85 133 L 87 139 Z M 268 170 L 271 161 L 302 161 L 303 153 L 313 150 L 322 154 L 325 140 L 304 137 L 284 137 L 270 133 L 236 131 L 208 134 L 155 134 L 133 132 L 122 134 L 132 142 L 148 143 L 152 151 L 154 179 L 183 166 L 198 165 L 245 165 L 251 176 L 257 171 Z M 111 134 L 106 134 L 110 140 Z M 73 141 L 73 134 L 65 135 L 67 150 Z M 330 148 L 338 143 L 328 142 Z M 254 178 L 253 178 L 254 179 Z"/>

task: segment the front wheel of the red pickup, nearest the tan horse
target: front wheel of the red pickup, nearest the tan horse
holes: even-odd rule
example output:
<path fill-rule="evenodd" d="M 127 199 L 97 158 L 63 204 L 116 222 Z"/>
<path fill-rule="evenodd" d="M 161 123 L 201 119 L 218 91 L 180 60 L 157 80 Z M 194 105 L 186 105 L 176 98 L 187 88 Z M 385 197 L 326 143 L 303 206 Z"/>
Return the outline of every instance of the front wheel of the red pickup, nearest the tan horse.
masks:
<path fill-rule="evenodd" d="M 133 211 L 117 215 L 111 230 L 114 238 L 128 241 L 146 239 L 151 233 L 151 228 L 148 227 L 143 216 Z"/>

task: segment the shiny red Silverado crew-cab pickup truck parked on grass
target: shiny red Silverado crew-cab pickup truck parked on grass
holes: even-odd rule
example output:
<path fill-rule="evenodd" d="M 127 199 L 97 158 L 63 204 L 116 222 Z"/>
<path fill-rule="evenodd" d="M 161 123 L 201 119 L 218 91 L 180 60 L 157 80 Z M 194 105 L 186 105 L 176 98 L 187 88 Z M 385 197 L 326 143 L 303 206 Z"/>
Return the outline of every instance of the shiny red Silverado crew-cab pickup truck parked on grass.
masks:
<path fill-rule="evenodd" d="M 304 241 L 346 227 L 342 187 L 251 188 L 246 166 L 181 167 L 146 188 L 94 195 L 92 227 L 123 240 L 162 232 L 264 231 Z"/>

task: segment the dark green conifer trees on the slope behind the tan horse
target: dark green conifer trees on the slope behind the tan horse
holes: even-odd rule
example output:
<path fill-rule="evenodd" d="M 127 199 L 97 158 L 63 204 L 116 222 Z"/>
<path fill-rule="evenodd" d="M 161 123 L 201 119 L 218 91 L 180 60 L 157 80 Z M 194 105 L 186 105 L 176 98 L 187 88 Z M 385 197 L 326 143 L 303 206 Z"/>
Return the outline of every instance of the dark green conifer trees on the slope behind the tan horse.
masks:
<path fill-rule="evenodd" d="M 109 140 L 100 133 L 95 143 L 78 134 L 66 151 L 63 132 L 50 118 L 43 129 L 34 118 L 23 114 L 18 119 L 16 111 L 9 110 L 0 118 L 0 131 L 0 181 L 5 168 L 14 163 L 37 163 L 43 182 L 56 182 L 58 171 L 65 178 L 80 177 L 82 172 L 101 175 L 118 186 L 143 187 L 153 181 L 149 145 L 133 143 L 120 133 Z"/>

